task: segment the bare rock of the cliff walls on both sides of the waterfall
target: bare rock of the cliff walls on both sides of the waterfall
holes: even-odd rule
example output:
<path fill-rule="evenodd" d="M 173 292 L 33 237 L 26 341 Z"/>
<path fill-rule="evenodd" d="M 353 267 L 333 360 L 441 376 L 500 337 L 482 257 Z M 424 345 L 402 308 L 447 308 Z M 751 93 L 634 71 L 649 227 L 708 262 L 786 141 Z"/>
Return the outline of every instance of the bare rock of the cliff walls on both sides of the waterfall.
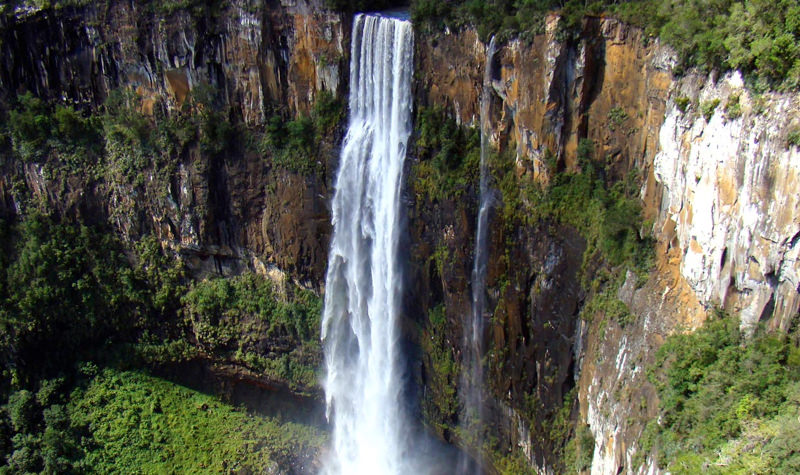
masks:
<path fill-rule="evenodd" d="M 321 91 L 344 95 L 350 19 L 317 2 L 236 0 L 195 15 L 138 5 L 4 18 L 0 96 L 8 101 L 28 89 L 97 107 L 110 91 L 129 87 L 144 98 L 146 114 L 174 113 L 188 91 L 210 83 L 232 121 L 259 128 L 273 113 L 308 112 Z M 549 17 L 530 43 L 498 49 L 491 142 L 514 158 L 520 183 L 546 184 L 555 170 L 578 170 L 581 139 L 593 142 L 609 180 L 633 171 L 655 265 L 647 279 L 629 274 L 621 286 L 618 297 L 632 313 L 624 327 L 603 315 L 582 320 L 591 292 L 581 278 L 592 278 L 591 270 L 582 274 L 585 239 L 570 226 L 505 220 L 496 210 L 489 218 L 487 426 L 500 453 L 556 471 L 558 447 L 544 427 L 565 395 L 577 394 L 572 415 L 588 423 L 595 441 L 592 473 L 657 471 L 647 457 L 636 466 L 635 456 L 657 414 L 645 368 L 664 338 L 701 325 L 715 307 L 747 328 L 765 321 L 787 329 L 797 315 L 800 151 L 787 146 L 787 134 L 800 127 L 800 97 L 754 94 L 737 74 L 673 78 L 669 48 L 610 18 L 587 18 L 578 39 L 560 39 Z M 416 109 L 438 106 L 476 126 L 484 55 L 469 29 L 418 36 Z M 717 99 L 705 117 L 703 106 Z M 734 103 L 738 109 L 726 107 Z M 153 232 L 198 275 L 249 268 L 321 289 L 338 140 L 320 154 L 322 174 L 272 167 L 242 146 L 218 156 L 185 151 L 167 180 L 152 174 L 141 187 L 4 160 L 0 213 L 24 212 L 41 198 L 59 213 L 110 220 L 124 239 Z M 419 159 L 412 153 L 404 197 L 412 285 L 403 330 L 417 349 L 457 362 L 470 313 L 478 188 L 431 197 L 415 174 Z M 445 323 L 434 330 L 427 317 L 437 307 Z M 422 341 L 434 336 L 440 339 Z M 466 443 L 452 430 L 457 411 L 444 390 L 457 381 L 443 378 L 436 361 L 423 350 L 412 368 L 421 412 L 442 438 Z"/>

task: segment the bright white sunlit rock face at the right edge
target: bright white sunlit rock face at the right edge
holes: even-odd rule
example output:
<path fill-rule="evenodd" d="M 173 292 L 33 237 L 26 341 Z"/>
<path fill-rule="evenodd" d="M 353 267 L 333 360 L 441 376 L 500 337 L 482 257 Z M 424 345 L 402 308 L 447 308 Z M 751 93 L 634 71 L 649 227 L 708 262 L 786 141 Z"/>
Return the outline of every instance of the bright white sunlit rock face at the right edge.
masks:
<path fill-rule="evenodd" d="M 740 315 L 743 328 L 787 330 L 800 304 L 800 153 L 787 142 L 800 99 L 756 99 L 738 74 L 686 78 L 672 98 L 654 162 L 660 240 L 681 250 L 681 275 L 703 304 Z"/>

